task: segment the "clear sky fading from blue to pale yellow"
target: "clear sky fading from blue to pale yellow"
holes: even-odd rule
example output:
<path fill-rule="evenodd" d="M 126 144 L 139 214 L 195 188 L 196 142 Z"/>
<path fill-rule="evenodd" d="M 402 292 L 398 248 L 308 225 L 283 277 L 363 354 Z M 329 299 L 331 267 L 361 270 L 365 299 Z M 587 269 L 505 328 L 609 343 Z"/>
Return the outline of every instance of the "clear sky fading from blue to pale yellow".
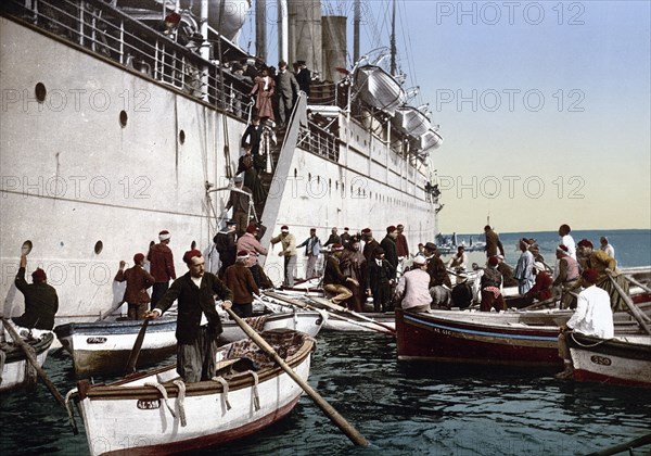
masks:
<path fill-rule="evenodd" d="M 651 2 L 396 4 L 411 104 L 430 103 L 445 139 L 431 154 L 442 232 L 488 217 L 503 232 L 651 229 Z M 324 7 L 349 35 L 352 9 Z M 388 46 L 390 11 L 362 0 L 362 54 Z"/>

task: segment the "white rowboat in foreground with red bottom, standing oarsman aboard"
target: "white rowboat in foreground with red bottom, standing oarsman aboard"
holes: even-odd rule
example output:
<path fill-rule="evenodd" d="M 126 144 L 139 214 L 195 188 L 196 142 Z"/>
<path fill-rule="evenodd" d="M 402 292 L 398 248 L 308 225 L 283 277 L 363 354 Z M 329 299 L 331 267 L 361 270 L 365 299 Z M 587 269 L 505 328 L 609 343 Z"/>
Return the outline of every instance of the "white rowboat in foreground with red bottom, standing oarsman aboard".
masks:
<path fill-rule="evenodd" d="M 301 379 L 308 378 L 310 337 L 291 330 L 261 337 Z M 243 358 L 248 359 L 238 362 Z M 217 359 L 216 377 L 196 383 L 180 381 L 175 366 L 106 385 L 79 382 L 68 395 L 79 402 L 90 454 L 158 455 L 216 446 L 272 425 L 298 403 L 302 388 L 250 340 L 220 347 Z M 254 365 L 258 370 L 251 370 Z"/>

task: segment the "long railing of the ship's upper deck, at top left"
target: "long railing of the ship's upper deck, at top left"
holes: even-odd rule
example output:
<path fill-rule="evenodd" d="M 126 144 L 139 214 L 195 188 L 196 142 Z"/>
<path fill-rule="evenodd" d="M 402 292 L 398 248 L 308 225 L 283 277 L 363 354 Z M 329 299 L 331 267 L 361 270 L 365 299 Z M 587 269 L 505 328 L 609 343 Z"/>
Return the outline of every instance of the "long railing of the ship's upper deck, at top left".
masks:
<path fill-rule="evenodd" d="M 246 121 L 253 83 L 199 55 L 204 41 L 177 42 L 181 30 L 165 36 L 101 0 L 3 0 L 0 10 Z"/>

